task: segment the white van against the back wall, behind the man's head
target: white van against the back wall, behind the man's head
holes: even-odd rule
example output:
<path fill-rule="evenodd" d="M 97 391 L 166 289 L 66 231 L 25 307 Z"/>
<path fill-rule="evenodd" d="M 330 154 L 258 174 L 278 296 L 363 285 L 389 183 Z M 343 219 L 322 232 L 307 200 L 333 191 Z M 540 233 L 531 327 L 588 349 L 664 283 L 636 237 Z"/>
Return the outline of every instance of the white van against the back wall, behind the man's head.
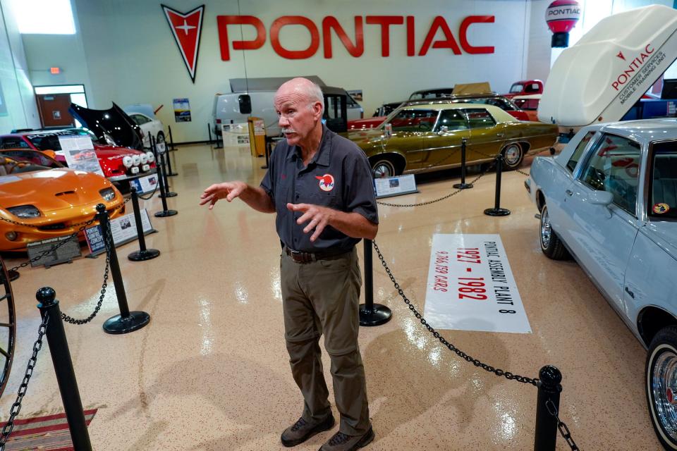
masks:
<path fill-rule="evenodd" d="M 308 77 L 322 88 L 324 94 L 332 94 L 340 91 L 346 95 L 346 111 L 348 120 L 364 117 L 364 110 L 358 102 L 350 97 L 343 88 L 328 87 L 317 77 Z M 232 79 L 231 89 L 228 94 L 216 94 L 214 96 L 214 132 L 221 133 L 221 124 L 244 123 L 247 118 L 255 116 L 262 118 L 266 125 L 266 135 L 276 137 L 280 135 L 277 123 L 277 113 L 273 106 L 275 92 L 283 82 L 291 78 L 250 78 L 243 85 L 243 79 Z M 325 95 L 326 97 L 326 95 Z"/>

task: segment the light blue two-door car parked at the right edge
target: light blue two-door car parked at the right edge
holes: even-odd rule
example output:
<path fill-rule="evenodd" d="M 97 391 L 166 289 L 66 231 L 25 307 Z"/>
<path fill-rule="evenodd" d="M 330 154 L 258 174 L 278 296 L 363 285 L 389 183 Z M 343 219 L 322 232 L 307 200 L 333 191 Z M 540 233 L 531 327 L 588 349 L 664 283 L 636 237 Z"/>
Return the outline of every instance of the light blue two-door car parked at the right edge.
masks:
<path fill-rule="evenodd" d="M 677 450 L 677 121 L 582 128 L 525 186 L 543 253 L 573 256 L 647 347 L 649 416 Z"/>

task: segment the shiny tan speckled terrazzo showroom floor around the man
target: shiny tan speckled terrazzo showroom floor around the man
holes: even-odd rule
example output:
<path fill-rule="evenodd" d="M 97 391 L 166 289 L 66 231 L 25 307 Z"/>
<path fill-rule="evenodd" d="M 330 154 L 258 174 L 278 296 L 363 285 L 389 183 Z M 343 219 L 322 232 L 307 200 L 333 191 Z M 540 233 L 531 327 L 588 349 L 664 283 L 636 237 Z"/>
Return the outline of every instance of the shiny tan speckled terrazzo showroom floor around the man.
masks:
<path fill-rule="evenodd" d="M 161 257 L 132 262 L 126 255 L 137 245 L 118 247 L 130 308 L 150 313 L 150 324 L 127 335 L 104 333 L 103 321 L 118 312 L 111 287 L 92 323 L 66 325 L 83 404 L 99 409 L 90 426 L 93 448 L 284 449 L 279 433 L 303 404 L 283 341 L 274 216 L 239 201 L 219 202 L 213 211 L 198 206 L 211 183 L 258 183 L 263 161 L 248 149 L 206 145 L 183 146 L 172 157 L 179 173 L 171 178 L 172 188 L 179 195 L 169 204 L 179 214 L 152 218 L 159 233 L 147 237 Z M 658 450 L 642 385 L 645 350 L 577 264 L 542 255 L 524 175 L 504 173 L 501 206 L 511 216 L 482 214 L 494 204 L 494 180 L 489 173 L 472 190 L 427 206 L 379 208 L 377 243 L 403 290 L 422 309 L 434 233 L 499 233 L 533 333 L 443 335 L 513 373 L 536 377 L 544 364 L 558 366 L 564 376 L 561 419 L 581 449 Z M 457 182 L 458 171 L 426 175 L 420 193 L 391 201 L 435 199 Z M 161 209 L 157 198 L 142 206 Z M 23 258 L 6 257 L 6 263 Z M 78 259 L 24 269 L 13 283 L 18 341 L 0 400 L 3 420 L 37 335 L 35 291 L 49 285 L 63 311 L 87 316 L 103 268 L 103 258 Z M 410 314 L 381 266 L 374 266 L 374 297 L 393 309 L 394 318 L 360 330 L 376 431 L 367 450 L 533 449 L 536 388 L 493 376 L 441 347 Z M 21 416 L 59 410 L 54 369 L 43 350 Z M 317 450 L 330 435 L 295 449 Z M 557 449 L 568 449 L 561 438 Z"/>

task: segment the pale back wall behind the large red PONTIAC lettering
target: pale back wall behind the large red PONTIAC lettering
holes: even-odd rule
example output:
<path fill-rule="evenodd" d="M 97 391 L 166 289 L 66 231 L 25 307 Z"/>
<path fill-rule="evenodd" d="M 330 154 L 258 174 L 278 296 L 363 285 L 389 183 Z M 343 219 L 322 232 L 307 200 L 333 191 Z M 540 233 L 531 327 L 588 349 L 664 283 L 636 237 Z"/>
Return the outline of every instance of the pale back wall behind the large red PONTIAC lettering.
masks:
<path fill-rule="evenodd" d="M 221 61 L 217 15 L 237 15 L 234 0 L 204 0 L 205 18 L 202 28 L 200 58 L 195 84 L 173 42 L 169 25 L 159 1 L 137 0 L 74 0 L 78 11 L 87 70 L 71 68 L 77 61 L 61 58 L 57 47 L 66 44 L 45 42 L 45 37 L 25 39 L 30 54 L 31 69 L 49 67 L 47 60 L 56 61 L 64 69 L 68 83 L 85 83 L 87 97 L 93 108 L 108 108 L 112 101 L 118 104 L 164 104 L 159 116 L 171 124 L 176 141 L 205 140 L 207 122 L 211 121 L 214 94 L 228 92 L 229 78 L 245 77 L 243 52 L 233 51 L 231 60 Z M 201 1 L 180 0 L 165 3 L 178 11 L 189 11 Z M 405 99 L 410 92 L 427 87 L 453 86 L 459 82 L 487 80 L 492 87 L 504 92 L 511 82 L 525 74 L 525 17 L 529 16 L 530 1 L 526 0 L 429 0 L 412 7 L 406 0 L 364 2 L 356 0 L 294 2 L 241 1 L 242 15 L 257 16 L 267 28 L 267 42 L 262 49 L 246 51 L 247 75 L 272 77 L 291 75 L 319 75 L 327 85 L 346 89 L 362 89 L 365 116 L 384 101 Z M 269 41 L 269 27 L 273 20 L 284 15 L 310 18 L 321 30 L 324 16 L 335 16 L 349 36 L 354 32 L 354 16 L 413 15 L 416 19 L 416 50 L 425 39 L 432 20 L 437 15 L 446 18 L 458 42 L 458 26 L 465 16 L 493 15 L 493 24 L 470 27 L 469 40 L 473 45 L 493 45 L 494 54 L 453 55 L 449 49 L 429 49 L 426 56 L 409 57 L 405 54 L 405 27 L 391 27 L 391 56 L 381 56 L 381 32 L 376 25 L 365 24 L 365 52 L 359 58 L 348 54 L 336 36 L 332 40 L 334 58 L 324 58 L 322 45 L 315 56 L 305 60 L 288 60 L 274 53 Z M 239 38 L 238 27 L 228 28 L 231 39 Z M 244 27 L 244 38 L 253 37 L 253 28 Z M 322 32 L 320 31 L 322 35 Z M 441 39 L 441 32 L 438 33 Z M 49 38 L 51 39 L 51 38 Z M 309 42 L 307 31 L 300 27 L 286 27 L 281 40 L 287 47 L 302 48 Z M 72 47 L 71 47 L 72 48 Z M 35 57 L 33 56 L 35 51 Z M 51 56 L 51 58 L 47 58 Z M 75 79 L 77 75 L 79 79 Z M 87 75 L 91 83 L 87 84 Z M 36 79 L 39 73 L 35 73 Z M 172 99 L 188 97 L 193 122 L 174 123 Z"/>

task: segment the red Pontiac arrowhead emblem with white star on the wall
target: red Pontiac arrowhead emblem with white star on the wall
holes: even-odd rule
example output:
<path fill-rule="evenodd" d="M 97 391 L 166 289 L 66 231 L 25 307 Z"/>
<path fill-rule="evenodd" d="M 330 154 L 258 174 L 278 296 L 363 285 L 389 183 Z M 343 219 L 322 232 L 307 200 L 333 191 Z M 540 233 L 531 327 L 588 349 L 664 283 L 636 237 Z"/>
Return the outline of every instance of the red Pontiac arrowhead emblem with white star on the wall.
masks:
<path fill-rule="evenodd" d="M 167 18 L 174 41 L 181 51 L 185 68 L 188 69 L 190 79 L 195 83 L 195 69 L 197 68 L 197 53 L 200 50 L 200 35 L 202 35 L 202 16 L 205 5 L 198 6 L 188 13 L 179 13 L 169 6 L 162 6 Z"/>

